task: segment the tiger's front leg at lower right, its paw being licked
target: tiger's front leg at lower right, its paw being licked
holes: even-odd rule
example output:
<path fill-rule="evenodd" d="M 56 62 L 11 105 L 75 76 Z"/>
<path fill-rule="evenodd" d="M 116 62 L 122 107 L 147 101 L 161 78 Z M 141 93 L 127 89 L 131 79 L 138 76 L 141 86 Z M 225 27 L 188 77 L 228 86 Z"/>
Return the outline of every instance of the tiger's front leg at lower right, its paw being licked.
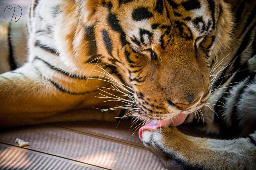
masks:
<path fill-rule="evenodd" d="M 168 169 L 254 169 L 255 140 L 256 133 L 233 140 L 191 137 L 176 127 L 142 133 L 144 146 Z"/>

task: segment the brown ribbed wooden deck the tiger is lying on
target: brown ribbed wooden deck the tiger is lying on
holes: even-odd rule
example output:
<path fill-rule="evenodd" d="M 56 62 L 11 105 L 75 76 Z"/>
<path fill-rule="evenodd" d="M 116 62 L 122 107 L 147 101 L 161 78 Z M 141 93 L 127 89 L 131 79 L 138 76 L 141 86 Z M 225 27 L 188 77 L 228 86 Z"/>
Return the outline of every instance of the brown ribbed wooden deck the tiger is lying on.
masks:
<path fill-rule="evenodd" d="M 165 169 L 140 142 L 138 132 L 129 130 L 130 121 L 116 126 L 117 122 L 66 122 L 1 130 L 0 169 Z M 17 146 L 16 138 L 29 146 Z"/>

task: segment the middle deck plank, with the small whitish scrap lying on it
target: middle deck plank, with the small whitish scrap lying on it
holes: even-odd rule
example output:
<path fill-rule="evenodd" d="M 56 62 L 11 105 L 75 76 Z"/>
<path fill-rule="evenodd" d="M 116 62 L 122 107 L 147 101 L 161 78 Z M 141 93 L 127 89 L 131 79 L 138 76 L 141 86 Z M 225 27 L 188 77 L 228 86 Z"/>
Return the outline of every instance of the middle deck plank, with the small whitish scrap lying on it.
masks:
<path fill-rule="evenodd" d="M 16 138 L 28 141 L 28 149 L 108 169 L 165 169 L 146 148 L 52 125 L 0 132 L 0 142 L 15 145 Z"/>

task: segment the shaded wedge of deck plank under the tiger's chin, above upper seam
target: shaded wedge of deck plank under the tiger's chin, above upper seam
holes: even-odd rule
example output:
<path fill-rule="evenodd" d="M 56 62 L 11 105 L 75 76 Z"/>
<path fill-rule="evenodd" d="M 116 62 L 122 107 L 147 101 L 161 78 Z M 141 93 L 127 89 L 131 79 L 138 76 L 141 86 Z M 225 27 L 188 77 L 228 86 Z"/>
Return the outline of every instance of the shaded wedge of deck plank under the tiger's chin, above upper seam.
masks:
<path fill-rule="evenodd" d="M 132 130 L 138 124 L 131 128 L 129 120 L 121 122 L 62 122 L 53 125 L 144 147 L 140 141 L 138 130 Z"/>

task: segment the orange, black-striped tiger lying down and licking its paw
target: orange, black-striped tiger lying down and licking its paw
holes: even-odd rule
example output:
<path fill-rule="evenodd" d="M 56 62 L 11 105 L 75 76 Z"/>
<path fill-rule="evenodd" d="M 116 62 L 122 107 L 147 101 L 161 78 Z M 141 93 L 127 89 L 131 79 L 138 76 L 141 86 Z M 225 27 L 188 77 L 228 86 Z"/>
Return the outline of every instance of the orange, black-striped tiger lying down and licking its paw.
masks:
<path fill-rule="evenodd" d="M 0 126 L 133 117 L 168 169 L 255 169 L 255 5 L 32 0 L 0 25 Z"/>

